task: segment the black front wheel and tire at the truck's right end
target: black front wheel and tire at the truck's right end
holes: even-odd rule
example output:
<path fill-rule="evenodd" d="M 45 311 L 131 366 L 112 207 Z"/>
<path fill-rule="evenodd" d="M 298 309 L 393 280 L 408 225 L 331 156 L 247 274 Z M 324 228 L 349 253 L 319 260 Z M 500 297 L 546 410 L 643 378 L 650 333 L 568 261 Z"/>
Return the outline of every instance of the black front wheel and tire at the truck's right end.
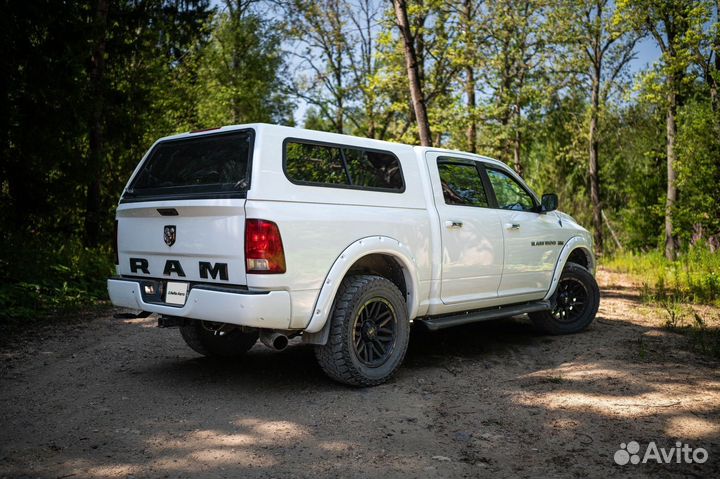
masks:
<path fill-rule="evenodd" d="M 583 297 L 582 304 L 573 309 L 576 305 L 573 299 L 579 297 Z M 556 306 L 552 311 L 529 315 L 535 326 L 554 335 L 578 333 L 595 319 L 600 306 L 600 288 L 590 271 L 579 264 L 568 263 L 560 275 L 553 302 Z"/>

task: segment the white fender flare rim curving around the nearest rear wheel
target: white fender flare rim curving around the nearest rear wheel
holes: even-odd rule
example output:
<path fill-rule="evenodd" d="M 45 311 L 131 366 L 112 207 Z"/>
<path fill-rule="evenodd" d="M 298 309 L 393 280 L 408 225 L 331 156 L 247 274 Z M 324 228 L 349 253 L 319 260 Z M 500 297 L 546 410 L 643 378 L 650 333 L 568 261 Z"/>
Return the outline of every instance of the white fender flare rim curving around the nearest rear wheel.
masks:
<path fill-rule="evenodd" d="M 370 254 L 384 254 L 392 256 L 400 263 L 405 285 L 407 287 L 408 317 L 414 318 L 418 311 L 418 278 L 415 257 L 404 243 L 387 236 L 369 236 L 345 248 L 335 260 L 325 277 L 320 294 L 315 302 L 310 323 L 305 328 L 307 333 L 317 333 L 327 323 L 330 316 L 335 295 L 340 288 L 345 275 L 360 258 Z"/>

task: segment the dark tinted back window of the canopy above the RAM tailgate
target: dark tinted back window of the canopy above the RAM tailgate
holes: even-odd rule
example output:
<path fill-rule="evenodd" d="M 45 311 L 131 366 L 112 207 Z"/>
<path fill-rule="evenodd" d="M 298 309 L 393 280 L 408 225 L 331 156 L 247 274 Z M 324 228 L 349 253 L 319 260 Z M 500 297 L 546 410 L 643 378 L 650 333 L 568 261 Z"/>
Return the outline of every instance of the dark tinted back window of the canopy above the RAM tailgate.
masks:
<path fill-rule="evenodd" d="M 249 130 L 158 143 L 123 199 L 244 197 L 251 152 Z"/>

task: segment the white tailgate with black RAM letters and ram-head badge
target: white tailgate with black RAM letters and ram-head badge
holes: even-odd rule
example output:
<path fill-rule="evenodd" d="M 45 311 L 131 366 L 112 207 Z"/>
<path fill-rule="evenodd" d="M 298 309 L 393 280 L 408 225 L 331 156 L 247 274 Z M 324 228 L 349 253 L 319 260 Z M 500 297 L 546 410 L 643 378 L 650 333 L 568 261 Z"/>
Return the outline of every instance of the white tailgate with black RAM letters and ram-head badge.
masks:
<path fill-rule="evenodd" d="M 245 285 L 245 200 L 124 203 L 118 274 Z"/>

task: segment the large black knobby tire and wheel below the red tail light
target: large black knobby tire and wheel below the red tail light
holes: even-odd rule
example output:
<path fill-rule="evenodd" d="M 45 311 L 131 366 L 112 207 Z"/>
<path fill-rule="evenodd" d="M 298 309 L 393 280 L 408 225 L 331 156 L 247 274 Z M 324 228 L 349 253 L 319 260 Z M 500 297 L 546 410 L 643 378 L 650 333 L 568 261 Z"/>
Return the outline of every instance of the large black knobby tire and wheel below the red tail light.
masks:
<path fill-rule="evenodd" d="M 392 328 L 388 327 L 390 323 L 383 323 L 388 315 L 394 317 Z M 391 281 L 371 275 L 345 278 L 329 321 L 328 342 L 315 347 L 315 356 L 332 379 L 351 386 L 375 386 L 387 381 L 402 364 L 410 339 L 410 324 L 405 300 Z M 387 333 L 388 329 L 392 329 L 392 334 Z M 372 331 L 375 333 L 370 334 Z M 387 339 L 390 336 L 392 340 Z M 363 342 L 360 347 L 356 346 Z M 367 346 L 369 343 L 372 345 Z M 368 356 L 369 348 L 385 352 L 374 358 L 379 364 L 372 364 L 373 353 Z"/>

